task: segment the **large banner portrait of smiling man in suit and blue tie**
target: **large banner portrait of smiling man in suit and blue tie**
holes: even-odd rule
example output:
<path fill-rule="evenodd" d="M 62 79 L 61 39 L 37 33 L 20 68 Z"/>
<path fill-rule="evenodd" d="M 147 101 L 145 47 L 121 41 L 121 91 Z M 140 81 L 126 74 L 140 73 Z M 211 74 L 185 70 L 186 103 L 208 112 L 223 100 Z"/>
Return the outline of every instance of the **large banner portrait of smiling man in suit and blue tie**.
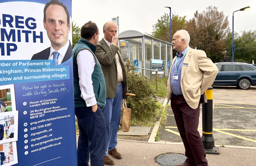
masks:
<path fill-rule="evenodd" d="M 67 6 L 59 0 L 50 0 L 43 10 L 43 26 L 51 46 L 33 55 L 31 60 L 53 60 L 54 65 L 67 61 L 72 56 L 72 45 L 68 40 L 70 20 Z"/>

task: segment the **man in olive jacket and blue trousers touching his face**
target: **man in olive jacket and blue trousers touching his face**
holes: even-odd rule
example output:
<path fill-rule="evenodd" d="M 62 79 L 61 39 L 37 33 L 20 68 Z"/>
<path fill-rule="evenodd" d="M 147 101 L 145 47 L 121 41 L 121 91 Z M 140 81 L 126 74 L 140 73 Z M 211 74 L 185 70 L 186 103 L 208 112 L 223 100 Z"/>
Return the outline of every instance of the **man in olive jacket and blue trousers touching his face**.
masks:
<path fill-rule="evenodd" d="M 107 155 L 116 159 L 122 156 L 115 148 L 117 146 L 117 130 L 121 118 L 122 99 L 126 99 L 127 82 L 124 60 L 120 47 L 117 46 L 117 26 L 114 22 L 106 22 L 103 26 L 104 38 L 96 45 L 95 55 L 101 64 L 106 83 L 106 106 L 102 110 L 106 124 L 106 145 L 104 162 L 113 165 L 114 161 Z"/>

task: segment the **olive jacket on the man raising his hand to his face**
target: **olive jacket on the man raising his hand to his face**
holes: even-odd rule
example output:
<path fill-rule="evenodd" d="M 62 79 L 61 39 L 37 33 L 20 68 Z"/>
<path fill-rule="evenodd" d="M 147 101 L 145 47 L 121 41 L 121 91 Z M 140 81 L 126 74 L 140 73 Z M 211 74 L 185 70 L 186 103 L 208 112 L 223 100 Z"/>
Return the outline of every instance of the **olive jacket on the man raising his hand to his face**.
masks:
<path fill-rule="evenodd" d="M 116 53 L 118 54 L 122 72 L 123 72 L 123 98 L 127 99 L 127 81 L 124 66 L 124 59 L 122 51 L 117 45 L 109 45 L 105 42 L 104 38 L 98 41 L 96 45 L 95 56 L 101 64 L 101 69 L 105 77 L 106 83 L 106 98 L 114 98 L 117 93 L 117 61 Z"/>

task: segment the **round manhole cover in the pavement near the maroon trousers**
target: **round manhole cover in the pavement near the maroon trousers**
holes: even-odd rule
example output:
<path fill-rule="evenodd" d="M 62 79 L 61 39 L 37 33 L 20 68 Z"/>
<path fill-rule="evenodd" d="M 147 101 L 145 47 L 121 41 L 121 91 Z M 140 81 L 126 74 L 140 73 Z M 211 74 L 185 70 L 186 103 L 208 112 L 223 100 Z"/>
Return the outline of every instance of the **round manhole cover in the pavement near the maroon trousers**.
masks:
<path fill-rule="evenodd" d="M 163 166 L 174 166 L 175 164 L 184 163 L 187 159 L 185 155 L 168 153 L 165 155 L 160 155 L 156 158 L 156 161 Z"/>

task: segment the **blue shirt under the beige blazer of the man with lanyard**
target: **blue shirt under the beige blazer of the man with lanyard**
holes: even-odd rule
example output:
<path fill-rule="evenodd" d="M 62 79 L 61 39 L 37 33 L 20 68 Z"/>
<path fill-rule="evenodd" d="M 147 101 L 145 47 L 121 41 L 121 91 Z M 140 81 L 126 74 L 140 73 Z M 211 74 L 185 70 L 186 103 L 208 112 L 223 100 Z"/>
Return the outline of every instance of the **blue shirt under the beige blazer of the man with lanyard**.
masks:
<path fill-rule="evenodd" d="M 188 46 L 189 47 L 189 46 Z M 186 49 L 188 49 L 188 47 Z M 172 68 L 171 68 L 171 75 L 170 75 L 170 81 L 171 81 L 171 91 L 173 94 L 175 95 L 182 95 L 182 90 L 181 90 L 181 86 L 180 86 L 180 77 L 181 77 L 181 69 L 182 69 L 182 65 L 183 65 L 183 62 L 184 62 L 184 59 L 185 57 L 182 59 L 183 56 L 186 56 L 184 55 L 184 53 L 186 52 L 186 49 L 184 49 L 184 51 L 182 53 L 179 53 L 177 52 L 176 53 L 176 56 L 178 57 L 178 61 L 176 63 L 177 67 L 178 67 L 178 64 L 180 62 L 180 65 L 177 69 L 177 73 L 176 75 L 179 76 L 178 80 L 173 80 L 172 79 L 172 76 L 175 75 L 175 63 L 172 65 Z"/>

